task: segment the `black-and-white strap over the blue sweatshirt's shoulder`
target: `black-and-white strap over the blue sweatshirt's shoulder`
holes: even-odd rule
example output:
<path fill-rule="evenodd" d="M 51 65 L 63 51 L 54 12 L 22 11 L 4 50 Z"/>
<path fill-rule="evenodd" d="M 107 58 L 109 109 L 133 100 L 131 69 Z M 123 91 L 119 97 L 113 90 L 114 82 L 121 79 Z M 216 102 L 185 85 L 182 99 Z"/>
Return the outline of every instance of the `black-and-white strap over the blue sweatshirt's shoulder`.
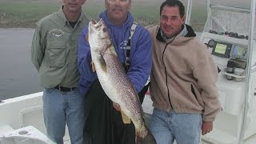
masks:
<path fill-rule="evenodd" d="M 130 37 L 128 38 L 128 42 L 126 45 L 126 61 L 125 61 L 125 69 L 126 72 L 128 71 L 130 67 L 130 47 L 131 47 L 131 38 L 134 35 L 134 31 L 136 29 L 136 26 L 138 26 L 138 23 L 134 22 L 133 25 L 130 28 Z"/>

